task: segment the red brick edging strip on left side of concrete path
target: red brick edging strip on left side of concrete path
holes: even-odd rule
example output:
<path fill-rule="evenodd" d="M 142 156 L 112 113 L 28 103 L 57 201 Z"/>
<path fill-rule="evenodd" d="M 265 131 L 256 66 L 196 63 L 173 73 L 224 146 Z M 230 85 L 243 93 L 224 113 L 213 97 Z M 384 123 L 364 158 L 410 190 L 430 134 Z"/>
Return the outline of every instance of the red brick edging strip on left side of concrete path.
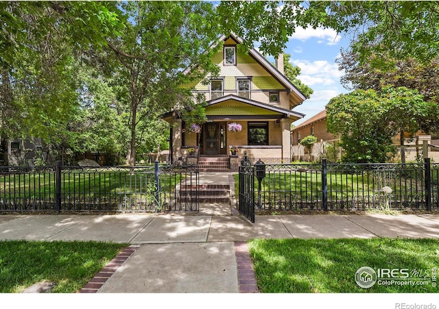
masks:
<path fill-rule="evenodd" d="M 104 286 L 105 282 L 113 273 L 123 264 L 134 252 L 139 248 L 137 245 L 130 245 L 123 249 L 115 258 L 110 260 L 108 264 L 105 265 L 99 273 L 97 273 L 89 282 L 86 284 L 79 293 L 97 293 L 99 288 Z"/>

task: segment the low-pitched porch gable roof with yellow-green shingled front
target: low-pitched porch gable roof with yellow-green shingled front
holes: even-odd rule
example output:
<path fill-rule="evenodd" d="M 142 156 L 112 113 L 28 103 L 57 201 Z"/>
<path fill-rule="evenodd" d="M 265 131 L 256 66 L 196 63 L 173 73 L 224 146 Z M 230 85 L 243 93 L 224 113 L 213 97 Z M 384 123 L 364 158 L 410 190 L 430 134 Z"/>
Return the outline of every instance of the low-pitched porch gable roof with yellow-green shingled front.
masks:
<path fill-rule="evenodd" d="M 256 117 L 272 117 L 272 118 L 289 118 L 300 119 L 305 114 L 285 110 L 278 106 L 272 106 L 252 99 L 238 97 L 237 95 L 226 95 L 207 101 L 206 115 L 211 116 L 244 116 L 244 118 Z"/>

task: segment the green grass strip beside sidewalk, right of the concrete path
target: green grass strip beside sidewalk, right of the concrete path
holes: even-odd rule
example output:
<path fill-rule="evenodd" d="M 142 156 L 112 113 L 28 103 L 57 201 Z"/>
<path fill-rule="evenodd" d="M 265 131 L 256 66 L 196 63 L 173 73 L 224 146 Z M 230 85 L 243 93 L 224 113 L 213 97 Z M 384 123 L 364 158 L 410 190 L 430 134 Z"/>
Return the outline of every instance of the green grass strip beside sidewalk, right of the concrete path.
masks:
<path fill-rule="evenodd" d="M 439 265 L 436 239 L 255 239 L 249 243 L 262 293 L 438 293 L 431 282 L 420 286 L 361 288 L 360 267 L 409 269 L 431 276 Z M 431 278 L 431 277 L 430 277 Z"/>

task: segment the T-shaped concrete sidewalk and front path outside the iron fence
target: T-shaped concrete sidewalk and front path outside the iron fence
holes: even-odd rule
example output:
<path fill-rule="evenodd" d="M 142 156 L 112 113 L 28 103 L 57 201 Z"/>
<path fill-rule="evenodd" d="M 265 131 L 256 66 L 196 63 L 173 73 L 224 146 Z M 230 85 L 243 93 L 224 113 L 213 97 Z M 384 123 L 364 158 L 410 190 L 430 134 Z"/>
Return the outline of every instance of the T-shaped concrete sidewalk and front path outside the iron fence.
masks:
<path fill-rule="evenodd" d="M 200 205 L 198 215 L 1 215 L 0 239 L 129 243 L 82 292 L 239 293 L 257 292 L 245 243 L 251 238 L 439 238 L 436 214 L 278 215 L 255 221 L 216 203 Z"/>

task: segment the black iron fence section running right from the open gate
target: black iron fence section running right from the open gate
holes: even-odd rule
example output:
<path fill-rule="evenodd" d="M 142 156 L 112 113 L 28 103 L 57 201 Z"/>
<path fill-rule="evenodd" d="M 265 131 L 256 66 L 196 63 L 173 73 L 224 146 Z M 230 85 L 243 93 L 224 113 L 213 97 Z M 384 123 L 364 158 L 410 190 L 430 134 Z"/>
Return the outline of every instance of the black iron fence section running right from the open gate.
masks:
<path fill-rule="evenodd" d="M 252 165 L 239 170 L 239 199 L 256 210 L 439 209 L 439 164 Z"/>

